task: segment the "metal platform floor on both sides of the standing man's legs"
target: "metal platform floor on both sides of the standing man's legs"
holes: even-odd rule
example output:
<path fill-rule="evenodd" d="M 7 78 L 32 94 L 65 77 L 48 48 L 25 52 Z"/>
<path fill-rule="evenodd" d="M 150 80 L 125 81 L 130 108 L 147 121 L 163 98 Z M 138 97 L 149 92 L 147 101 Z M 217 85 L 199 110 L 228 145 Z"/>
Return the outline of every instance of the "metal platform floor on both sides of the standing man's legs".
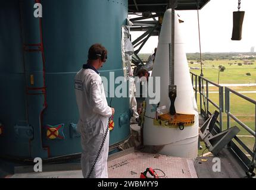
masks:
<path fill-rule="evenodd" d="M 49 170 L 49 166 L 48 170 Z M 54 170 L 55 166 L 52 166 Z M 164 178 L 197 178 L 193 161 L 179 157 L 169 157 L 159 154 L 148 154 L 141 152 L 128 151 L 126 154 L 121 153 L 110 157 L 108 161 L 108 178 L 140 178 L 141 172 L 146 168 L 161 169 L 166 174 Z M 82 178 L 82 171 L 72 170 L 65 171 L 67 166 L 63 165 L 63 171 L 58 172 L 31 172 L 16 173 L 9 178 Z M 21 170 L 22 172 L 22 170 Z M 162 172 L 157 171 L 159 176 Z"/>

